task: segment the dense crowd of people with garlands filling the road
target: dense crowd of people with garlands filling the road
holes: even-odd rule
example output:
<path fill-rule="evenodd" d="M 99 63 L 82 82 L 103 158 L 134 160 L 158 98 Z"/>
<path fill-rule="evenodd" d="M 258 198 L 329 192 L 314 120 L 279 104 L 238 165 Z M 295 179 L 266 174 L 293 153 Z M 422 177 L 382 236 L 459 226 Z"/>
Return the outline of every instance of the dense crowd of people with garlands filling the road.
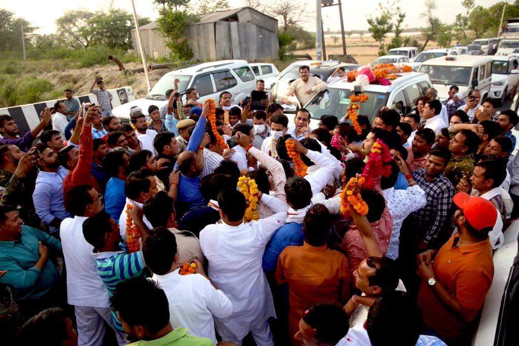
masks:
<path fill-rule="evenodd" d="M 326 88 L 313 78 L 291 90 Z M 359 132 L 348 115 L 311 129 L 304 108 L 222 92 L 213 109 L 175 80 L 126 121 L 95 84 L 99 105 L 66 90 L 23 135 L 0 115 L 7 344 L 470 343 L 519 215 L 513 110 L 452 86 Z"/>

